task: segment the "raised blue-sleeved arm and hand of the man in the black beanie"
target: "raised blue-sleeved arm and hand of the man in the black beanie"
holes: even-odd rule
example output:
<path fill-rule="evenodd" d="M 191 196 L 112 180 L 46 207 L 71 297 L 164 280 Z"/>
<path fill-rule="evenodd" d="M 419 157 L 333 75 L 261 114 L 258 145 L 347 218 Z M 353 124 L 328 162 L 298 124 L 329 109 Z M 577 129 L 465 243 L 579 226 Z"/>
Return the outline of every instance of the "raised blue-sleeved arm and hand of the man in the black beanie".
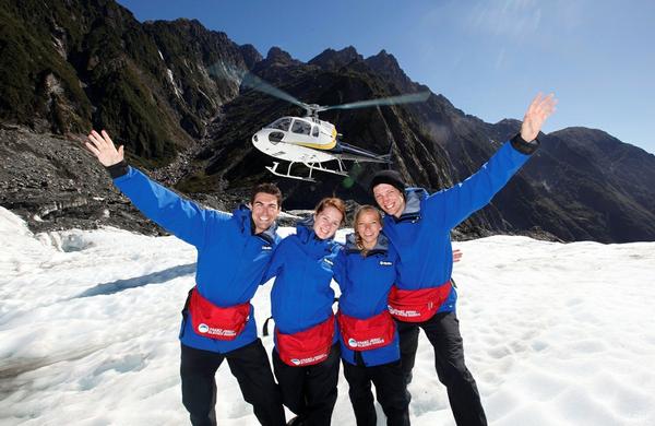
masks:
<path fill-rule="evenodd" d="M 436 220 L 439 226 L 451 229 L 487 205 L 537 150 L 537 134 L 555 111 L 556 104 L 557 99 L 552 94 L 543 96 L 539 93 L 535 96 L 523 118 L 521 133 L 501 146 L 466 180 L 428 197 L 424 204 L 427 216 Z"/>

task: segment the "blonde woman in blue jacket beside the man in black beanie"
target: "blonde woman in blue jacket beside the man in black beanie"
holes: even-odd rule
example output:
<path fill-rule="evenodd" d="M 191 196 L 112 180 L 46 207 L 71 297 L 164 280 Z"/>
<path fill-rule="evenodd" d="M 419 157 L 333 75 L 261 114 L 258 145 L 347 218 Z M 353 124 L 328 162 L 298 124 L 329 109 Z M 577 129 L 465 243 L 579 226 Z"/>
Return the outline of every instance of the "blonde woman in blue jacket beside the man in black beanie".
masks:
<path fill-rule="evenodd" d="M 355 418 L 358 426 L 377 424 L 372 381 L 386 424 L 409 425 L 398 333 L 388 309 L 398 257 L 380 233 L 382 216 L 376 208 L 359 208 L 353 227 L 355 233 L 346 237 L 346 247 L 336 258 L 334 279 L 342 291 L 340 343 Z"/>

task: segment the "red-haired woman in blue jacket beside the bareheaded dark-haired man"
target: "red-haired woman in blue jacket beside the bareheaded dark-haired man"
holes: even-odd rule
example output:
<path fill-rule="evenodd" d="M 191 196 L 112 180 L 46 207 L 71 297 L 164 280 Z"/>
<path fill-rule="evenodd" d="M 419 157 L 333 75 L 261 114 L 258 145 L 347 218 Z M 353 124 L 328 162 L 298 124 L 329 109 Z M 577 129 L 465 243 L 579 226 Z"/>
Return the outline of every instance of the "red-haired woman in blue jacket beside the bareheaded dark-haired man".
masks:
<path fill-rule="evenodd" d="M 293 425 L 330 425 L 336 402 L 340 350 L 330 283 L 342 250 L 333 237 L 344 217 L 341 199 L 323 199 L 313 221 L 297 226 L 275 249 L 265 277 L 276 276 L 273 369 L 284 404 L 298 416 Z"/>

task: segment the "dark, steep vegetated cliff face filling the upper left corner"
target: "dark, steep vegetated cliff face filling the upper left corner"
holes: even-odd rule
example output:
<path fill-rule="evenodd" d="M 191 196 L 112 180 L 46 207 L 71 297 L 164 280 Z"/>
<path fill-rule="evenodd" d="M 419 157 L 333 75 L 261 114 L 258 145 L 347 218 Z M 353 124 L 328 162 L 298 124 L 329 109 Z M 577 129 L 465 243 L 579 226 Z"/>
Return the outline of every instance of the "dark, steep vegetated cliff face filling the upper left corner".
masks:
<path fill-rule="evenodd" d="M 132 159 L 170 162 L 200 138 L 246 70 L 261 57 L 196 21 L 139 23 L 110 0 L 0 3 L 0 117 L 37 131 L 112 131 Z"/>

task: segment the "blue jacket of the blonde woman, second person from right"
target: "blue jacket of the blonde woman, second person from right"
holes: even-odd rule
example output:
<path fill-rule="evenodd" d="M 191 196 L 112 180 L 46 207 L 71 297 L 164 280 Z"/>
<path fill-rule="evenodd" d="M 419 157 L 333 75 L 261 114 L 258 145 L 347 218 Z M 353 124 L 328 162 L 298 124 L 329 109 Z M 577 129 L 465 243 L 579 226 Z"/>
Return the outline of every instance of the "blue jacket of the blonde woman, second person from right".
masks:
<path fill-rule="evenodd" d="M 355 234 L 346 237 L 346 247 L 337 256 L 334 263 L 334 280 L 341 287 L 338 309 L 343 313 L 358 319 L 374 317 L 388 309 L 388 298 L 391 286 L 396 280 L 398 256 L 389 244 L 384 234 L 378 237 L 378 244 L 366 257 L 357 248 Z M 356 365 L 355 351 L 340 339 L 342 358 Z M 361 359 L 366 366 L 377 366 L 393 363 L 401 358 L 398 331 L 393 341 L 382 347 L 361 351 Z"/>

